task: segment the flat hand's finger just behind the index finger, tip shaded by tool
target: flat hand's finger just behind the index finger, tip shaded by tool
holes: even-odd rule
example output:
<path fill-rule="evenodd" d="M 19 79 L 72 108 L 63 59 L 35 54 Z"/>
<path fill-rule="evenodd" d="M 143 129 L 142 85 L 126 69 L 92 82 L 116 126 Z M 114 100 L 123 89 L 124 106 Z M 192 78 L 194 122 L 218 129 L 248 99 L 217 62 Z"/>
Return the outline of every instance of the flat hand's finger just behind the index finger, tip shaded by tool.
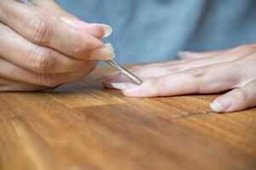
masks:
<path fill-rule="evenodd" d="M 131 69 L 131 72 L 133 72 L 133 74 L 137 75 L 137 77 L 141 78 L 142 80 L 145 80 L 153 77 L 162 77 L 180 71 L 187 71 L 196 67 L 234 61 L 254 53 L 255 50 L 253 48 L 234 48 L 208 58 L 185 60 L 183 62 L 162 63 L 158 65 L 139 66 Z M 106 88 L 112 88 L 112 82 L 131 81 L 118 72 L 116 74 L 103 77 L 102 82 Z"/>

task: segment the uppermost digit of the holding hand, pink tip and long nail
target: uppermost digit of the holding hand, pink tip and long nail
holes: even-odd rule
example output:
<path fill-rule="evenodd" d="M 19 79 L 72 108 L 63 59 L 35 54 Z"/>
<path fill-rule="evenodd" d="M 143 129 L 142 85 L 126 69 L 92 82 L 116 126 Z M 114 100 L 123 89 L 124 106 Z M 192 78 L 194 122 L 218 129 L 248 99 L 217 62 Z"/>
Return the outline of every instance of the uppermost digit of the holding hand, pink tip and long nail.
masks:
<path fill-rule="evenodd" d="M 108 37 L 112 33 L 112 28 L 110 26 L 104 24 L 90 24 L 79 20 L 77 16 L 69 14 L 53 0 L 34 0 L 33 4 L 40 8 L 44 8 L 44 10 L 48 11 L 50 14 L 54 14 L 59 19 L 67 23 L 67 25 L 73 26 L 79 31 L 86 31 L 94 37 Z"/>

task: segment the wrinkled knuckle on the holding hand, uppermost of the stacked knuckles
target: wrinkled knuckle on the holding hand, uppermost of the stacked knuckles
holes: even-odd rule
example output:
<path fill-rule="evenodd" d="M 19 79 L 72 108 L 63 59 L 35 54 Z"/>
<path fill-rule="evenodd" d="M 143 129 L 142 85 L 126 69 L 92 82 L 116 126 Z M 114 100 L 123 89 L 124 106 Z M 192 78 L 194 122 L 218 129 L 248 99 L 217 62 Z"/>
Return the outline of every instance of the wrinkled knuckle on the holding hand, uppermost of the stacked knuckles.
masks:
<path fill-rule="evenodd" d="M 27 27 L 28 37 L 31 38 L 33 42 L 47 44 L 52 37 L 53 28 L 50 26 L 47 17 L 44 17 L 44 19 L 38 16 L 32 17 L 27 21 Z"/>

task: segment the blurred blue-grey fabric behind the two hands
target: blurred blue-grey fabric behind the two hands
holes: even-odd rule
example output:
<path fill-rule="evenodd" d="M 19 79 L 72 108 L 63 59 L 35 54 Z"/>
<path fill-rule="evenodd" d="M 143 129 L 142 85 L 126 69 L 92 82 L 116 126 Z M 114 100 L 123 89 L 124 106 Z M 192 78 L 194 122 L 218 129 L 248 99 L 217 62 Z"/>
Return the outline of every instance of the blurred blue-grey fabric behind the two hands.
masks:
<path fill-rule="evenodd" d="M 113 27 L 122 64 L 177 59 L 177 52 L 256 42 L 255 0 L 56 0 L 91 23 Z"/>

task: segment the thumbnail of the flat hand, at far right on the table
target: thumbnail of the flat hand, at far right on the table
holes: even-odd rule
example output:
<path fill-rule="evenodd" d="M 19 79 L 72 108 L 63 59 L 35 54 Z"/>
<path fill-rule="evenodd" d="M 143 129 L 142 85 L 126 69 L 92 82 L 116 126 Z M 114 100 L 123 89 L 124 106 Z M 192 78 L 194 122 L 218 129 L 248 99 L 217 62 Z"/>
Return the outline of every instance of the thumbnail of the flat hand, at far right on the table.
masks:
<path fill-rule="evenodd" d="M 212 111 L 216 111 L 216 112 L 224 112 L 226 111 L 230 106 L 232 105 L 232 100 L 230 99 L 230 97 L 222 97 L 219 99 L 215 99 L 211 106 Z"/>

